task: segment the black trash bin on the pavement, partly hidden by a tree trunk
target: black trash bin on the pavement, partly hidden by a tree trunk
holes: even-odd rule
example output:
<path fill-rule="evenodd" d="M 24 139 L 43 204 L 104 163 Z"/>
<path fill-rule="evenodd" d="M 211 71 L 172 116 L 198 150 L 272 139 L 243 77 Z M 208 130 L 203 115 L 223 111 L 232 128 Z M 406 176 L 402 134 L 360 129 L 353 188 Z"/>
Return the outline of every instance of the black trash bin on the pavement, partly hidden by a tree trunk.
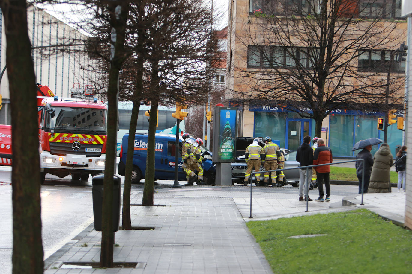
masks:
<path fill-rule="evenodd" d="M 103 211 L 103 180 L 104 173 L 94 175 L 91 178 L 93 194 L 93 216 L 94 230 L 102 231 L 102 211 Z M 120 189 L 121 179 L 119 176 L 113 176 L 113 205 L 112 205 L 112 222 L 113 232 L 119 230 L 120 221 Z"/>

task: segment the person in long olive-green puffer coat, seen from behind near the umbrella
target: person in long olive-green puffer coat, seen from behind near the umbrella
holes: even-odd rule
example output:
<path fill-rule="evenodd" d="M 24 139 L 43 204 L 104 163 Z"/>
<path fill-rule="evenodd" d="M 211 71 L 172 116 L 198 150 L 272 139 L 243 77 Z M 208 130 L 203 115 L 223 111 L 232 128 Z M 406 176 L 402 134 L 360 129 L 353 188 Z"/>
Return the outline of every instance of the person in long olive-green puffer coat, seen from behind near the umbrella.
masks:
<path fill-rule="evenodd" d="M 389 192 L 390 168 L 393 164 L 393 156 L 389 145 L 382 143 L 373 157 L 372 173 L 368 193 Z"/>

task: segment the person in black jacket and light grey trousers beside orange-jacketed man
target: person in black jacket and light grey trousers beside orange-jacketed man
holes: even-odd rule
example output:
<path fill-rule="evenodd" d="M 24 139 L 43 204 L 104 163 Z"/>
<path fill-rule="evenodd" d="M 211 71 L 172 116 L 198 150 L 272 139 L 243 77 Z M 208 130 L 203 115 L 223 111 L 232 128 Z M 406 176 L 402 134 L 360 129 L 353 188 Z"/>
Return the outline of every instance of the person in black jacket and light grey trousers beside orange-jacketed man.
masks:
<path fill-rule="evenodd" d="M 296 161 L 300 163 L 300 166 L 311 166 L 313 165 L 313 149 L 309 145 L 311 141 L 311 138 L 309 135 L 305 136 L 303 138 L 303 143 L 302 145 L 297 149 L 296 152 Z M 311 201 L 312 199 L 309 198 L 309 189 L 306 189 L 306 182 L 309 180 L 309 182 L 312 179 L 312 168 L 309 168 L 307 171 L 307 168 L 301 168 L 299 169 L 299 200 L 309 200 Z M 305 198 L 303 198 L 303 193 L 305 193 Z"/>

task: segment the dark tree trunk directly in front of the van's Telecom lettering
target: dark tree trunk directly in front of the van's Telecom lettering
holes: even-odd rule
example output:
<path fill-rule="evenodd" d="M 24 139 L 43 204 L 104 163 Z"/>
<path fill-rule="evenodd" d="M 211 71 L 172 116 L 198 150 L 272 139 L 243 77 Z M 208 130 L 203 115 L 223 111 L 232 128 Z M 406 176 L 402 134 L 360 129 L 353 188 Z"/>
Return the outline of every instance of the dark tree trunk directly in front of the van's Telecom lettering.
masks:
<path fill-rule="evenodd" d="M 147 159 L 145 188 L 143 189 L 142 205 L 153 205 L 153 192 L 155 191 L 155 138 L 157 123 L 157 101 L 150 104 L 149 133 L 147 136 Z"/>

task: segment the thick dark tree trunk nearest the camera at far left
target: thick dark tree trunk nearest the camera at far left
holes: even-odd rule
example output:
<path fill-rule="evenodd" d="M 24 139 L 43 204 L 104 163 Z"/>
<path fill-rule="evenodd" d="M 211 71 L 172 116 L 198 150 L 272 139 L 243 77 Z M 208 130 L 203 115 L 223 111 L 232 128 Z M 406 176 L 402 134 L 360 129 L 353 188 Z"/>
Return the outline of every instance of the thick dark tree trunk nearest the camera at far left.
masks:
<path fill-rule="evenodd" d="M 26 0 L 0 1 L 12 108 L 13 273 L 43 273 L 40 157 L 35 74 Z"/>

